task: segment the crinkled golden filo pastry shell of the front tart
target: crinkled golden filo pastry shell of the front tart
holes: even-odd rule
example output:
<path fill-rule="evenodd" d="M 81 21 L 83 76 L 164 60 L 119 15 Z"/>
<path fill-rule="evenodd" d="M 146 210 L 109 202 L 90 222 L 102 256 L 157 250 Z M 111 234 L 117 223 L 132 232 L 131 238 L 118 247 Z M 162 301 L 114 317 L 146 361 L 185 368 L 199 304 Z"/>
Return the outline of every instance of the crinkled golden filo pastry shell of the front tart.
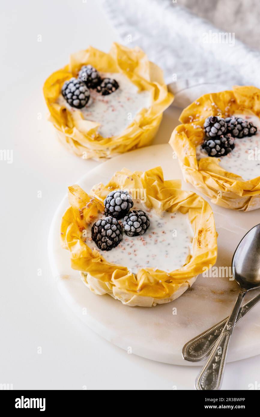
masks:
<path fill-rule="evenodd" d="M 154 265 L 133 274 L 127 265 L 107 262 L 106 252 L 88 247 L 82 240 L 82 231 L 97 216 L 101 217 L 104 198 L 117 188 L 137 189 L 140 195 L 146 193 L 145 205 L 158 214 L 165 210 L 188 214 L 194 237 L 187 264 L 170 273 Z M 217 234 L 210 205 L 197 194 L 182 191 L 180 180 L 164 181 L 161 167 L 134 173 L 124 168 L 106 186 L 102 183 L 93 186 L 89 194 L 77 185 L 71 186 L 68 200 L 70 207 L 61 221 L 61 245 L 70 252 L 71 267 L 81 271 L 83 282 L 95 294 L 110 294 L 129 306 L 167 303 L 186 291 L 205 268 L 215 264 Z"/>

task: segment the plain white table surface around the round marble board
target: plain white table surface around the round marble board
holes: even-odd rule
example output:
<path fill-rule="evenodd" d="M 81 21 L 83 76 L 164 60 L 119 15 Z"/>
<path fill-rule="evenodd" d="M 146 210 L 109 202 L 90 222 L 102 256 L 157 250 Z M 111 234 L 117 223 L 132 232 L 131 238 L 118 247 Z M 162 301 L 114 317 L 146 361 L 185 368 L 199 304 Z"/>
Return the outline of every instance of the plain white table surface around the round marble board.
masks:
<path fill-rule="evenodd" d="M 1 149 L 13 150 L 13 163 L 0 161 L 0 383 L 13 389 L 194 389 L 198 367 L 128 354 L 86 329 L 50 272 L 47 239 L 55 209 L 67 186 L 97 162 L 71 155 L 56 141 L 42 85 L 69 53 L 88 45 L 108 50 L 119 38 L 91 0 L 13 0 L 1 9 Z M 164 114 L 154 143 L 167 143 L 178 114 L 174 108 Z M 260 356 L 227 364 L 222 389 L 248 389 L 260 382 L 259 369 Z"/>

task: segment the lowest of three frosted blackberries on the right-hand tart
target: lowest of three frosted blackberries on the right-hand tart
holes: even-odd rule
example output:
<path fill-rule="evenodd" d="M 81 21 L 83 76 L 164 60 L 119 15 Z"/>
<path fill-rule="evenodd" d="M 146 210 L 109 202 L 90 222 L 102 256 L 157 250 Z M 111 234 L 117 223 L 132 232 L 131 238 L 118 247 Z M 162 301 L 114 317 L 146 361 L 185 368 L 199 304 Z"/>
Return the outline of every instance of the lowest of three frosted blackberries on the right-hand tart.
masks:
<path fill-rule="evenodd" d="M 214 139 L 207 139 L 202 143 L 202 149 L 207 152 L 209 156 L 225 156 L 235 148 L 235 138 L 230 133 L 218 136 Z"/>

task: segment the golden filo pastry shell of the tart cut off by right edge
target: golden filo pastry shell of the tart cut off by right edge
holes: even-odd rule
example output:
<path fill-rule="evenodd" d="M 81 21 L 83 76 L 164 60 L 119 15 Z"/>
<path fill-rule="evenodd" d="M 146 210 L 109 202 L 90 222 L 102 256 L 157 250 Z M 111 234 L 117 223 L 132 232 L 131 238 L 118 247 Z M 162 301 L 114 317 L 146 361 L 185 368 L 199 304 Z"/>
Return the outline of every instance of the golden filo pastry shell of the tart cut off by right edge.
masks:
<path fill-rule="evenodd" d="M 170 138 L 184 179 L 225 208 L 250 211 L 260 208 L 260 176 L 244 181 L 236 173 L 219 166 L 219 158 L 196 159 L 196 146 L 203 142 L 203 124 L 208 116 L 227 117 L 235 113 L 260 115 L 260 90 L 234 86 L 231 91 L 205 94 L 185 108 L 179 118 L 183 124 Z M 260 175 L 260 173 L 259 173 Z"/>

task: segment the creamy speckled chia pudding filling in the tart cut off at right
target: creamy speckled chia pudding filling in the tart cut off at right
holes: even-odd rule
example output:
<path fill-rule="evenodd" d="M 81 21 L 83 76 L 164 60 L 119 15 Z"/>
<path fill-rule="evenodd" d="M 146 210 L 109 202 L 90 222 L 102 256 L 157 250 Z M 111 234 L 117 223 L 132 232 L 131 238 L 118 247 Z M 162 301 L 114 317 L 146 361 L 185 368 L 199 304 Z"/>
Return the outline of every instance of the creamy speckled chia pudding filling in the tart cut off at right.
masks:
<path fill-rule="evenodd" d="M 225 156 L 220 157 L 220 166 L 227 172 L 232 172 L 249 181 L 260 176 L 260 119 L 255 115 L 245 116 L 236 114 L 257 127 L 257 133 L 254 136 L 244 138 L 235 138 L 235 148 Z M 196 148 L 197 161 L 201 158 L 209 157 L 201 148 Z"/>

